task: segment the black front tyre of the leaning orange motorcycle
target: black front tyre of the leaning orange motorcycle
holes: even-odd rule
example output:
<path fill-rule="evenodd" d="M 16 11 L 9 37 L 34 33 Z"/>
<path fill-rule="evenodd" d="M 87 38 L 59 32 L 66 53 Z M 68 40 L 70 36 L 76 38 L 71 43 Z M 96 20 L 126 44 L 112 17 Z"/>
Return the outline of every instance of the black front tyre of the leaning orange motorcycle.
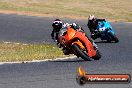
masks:
<path fill-rule="evenodd" d="M 90 57 L 77 44 L 72 45 L 72 49 L 77 57 L 81 57 L 85 61 L 91 61 Z"/>

